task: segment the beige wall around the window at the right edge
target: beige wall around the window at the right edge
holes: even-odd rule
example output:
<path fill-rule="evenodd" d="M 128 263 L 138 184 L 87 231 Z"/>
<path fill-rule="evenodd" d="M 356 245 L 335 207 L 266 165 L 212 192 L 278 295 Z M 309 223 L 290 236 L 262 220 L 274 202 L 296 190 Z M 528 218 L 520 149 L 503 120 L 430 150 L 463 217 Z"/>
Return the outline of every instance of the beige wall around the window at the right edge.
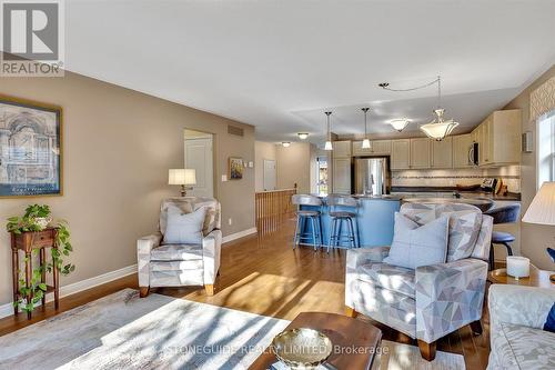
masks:
<path fill-rule="evenodd" d="M 523 132 L 532 131 L 534 137 L 534 151 L 532 153 L 522 153 L 521 167 L 521 188 L 523 214 L 528 208 L 532 199 L 536 194 L 537 173 L 536 173 L 536 122 L 529 121 L 529 93 L 537 89 L 543 82 L 555 76 L 555 66 L 541 76 L 529 87 L 527 87 L 518 97 L 511 101 L 504 109 L 522 109 L 522 129 Z M 544 269 L 554 269 L 553 263 L 545 252 L 546 247 L 555 244 L 555 227 L 537 226 L 529 223 L 521 224 L 521 250 L 522 254 L 528 257 L 534 264 Z"/>

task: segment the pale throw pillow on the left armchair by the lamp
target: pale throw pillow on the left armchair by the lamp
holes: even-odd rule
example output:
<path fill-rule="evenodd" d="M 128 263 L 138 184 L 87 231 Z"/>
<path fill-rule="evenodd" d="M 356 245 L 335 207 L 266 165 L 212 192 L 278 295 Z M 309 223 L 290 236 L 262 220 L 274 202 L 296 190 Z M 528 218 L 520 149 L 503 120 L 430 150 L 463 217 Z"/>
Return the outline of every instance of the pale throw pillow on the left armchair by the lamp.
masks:
<path fill-rule="evenodd" d="M 164 243 L 200 244 L 206 209 L 204 207 L 192 213 L 183 211 L 174 204 L 168 206 L 168 224 L 165 227 Z"/>

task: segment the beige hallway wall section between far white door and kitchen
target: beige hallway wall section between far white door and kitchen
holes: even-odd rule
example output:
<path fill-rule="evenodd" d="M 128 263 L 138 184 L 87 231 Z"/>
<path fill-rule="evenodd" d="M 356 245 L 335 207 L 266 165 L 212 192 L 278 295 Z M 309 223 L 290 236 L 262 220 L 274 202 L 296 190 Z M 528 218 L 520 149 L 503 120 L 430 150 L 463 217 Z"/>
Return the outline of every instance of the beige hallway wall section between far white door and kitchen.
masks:
<path fill-rule="evenodd" d="M 310 192 L 311 144 L 292 142 L 289 148 L 276 146 L 278 189 L 291 189 L 297 184 L 299 193 Z"/>

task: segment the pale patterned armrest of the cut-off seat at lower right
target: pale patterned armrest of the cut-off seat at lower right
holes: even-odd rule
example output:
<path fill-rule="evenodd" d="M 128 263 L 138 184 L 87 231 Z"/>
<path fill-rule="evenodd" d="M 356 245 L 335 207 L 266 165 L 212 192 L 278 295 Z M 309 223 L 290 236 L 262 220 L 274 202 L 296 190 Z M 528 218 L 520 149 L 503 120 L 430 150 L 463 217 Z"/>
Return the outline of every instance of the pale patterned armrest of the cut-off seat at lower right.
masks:
<path fill-rule="evenodd" d="M 490 317 L 492 323 L 504 322 L 542 329 L 555 303 L 555 290 L 519 286 L 490 287 Z"/>

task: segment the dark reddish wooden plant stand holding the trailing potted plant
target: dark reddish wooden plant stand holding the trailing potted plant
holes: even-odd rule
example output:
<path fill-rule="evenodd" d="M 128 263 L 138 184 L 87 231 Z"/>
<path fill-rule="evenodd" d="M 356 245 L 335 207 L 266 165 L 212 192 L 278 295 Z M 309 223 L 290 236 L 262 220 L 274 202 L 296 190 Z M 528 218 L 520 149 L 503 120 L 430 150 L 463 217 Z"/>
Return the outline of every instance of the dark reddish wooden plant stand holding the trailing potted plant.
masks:
<path fill-rule="evenodd" d="M 22 250 L 26 256 L 26 284 L 29 287 L 32 278 L 32 250 L 39 249 L 39 261 L 41 264 L 46 262 L 47 259 L 47 248 L 58 249 L 56 242 L 58 234 L 57 228 L 47 228 L 42 231 L 26 231 L 20 234 L 11 233 L 11 269 L 13 278 L 13 302 L 17 302 L 20 298 L 26 298 L 28 302 L 32 300 L 32 294 L 29 293 L 27 297 L 20 297 L 19 293 L 19 251 Z M 53 286 L 47 286 L 47 291 L 42 297 L 42 307 L 47 303 L 47 293 L 54 292 L 54 307 L 56 309 L 60 306 L 60 273 L 56 263 L 52 263 L 52 280 Z M 47 271 L 42 271 L 41 282 L 47 282 Z M 18 314 L 18 307 L 13 309 L 13 313 Z M 27 312 L 27 319 L 31 319 L 31 312 Z"/>

